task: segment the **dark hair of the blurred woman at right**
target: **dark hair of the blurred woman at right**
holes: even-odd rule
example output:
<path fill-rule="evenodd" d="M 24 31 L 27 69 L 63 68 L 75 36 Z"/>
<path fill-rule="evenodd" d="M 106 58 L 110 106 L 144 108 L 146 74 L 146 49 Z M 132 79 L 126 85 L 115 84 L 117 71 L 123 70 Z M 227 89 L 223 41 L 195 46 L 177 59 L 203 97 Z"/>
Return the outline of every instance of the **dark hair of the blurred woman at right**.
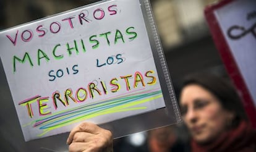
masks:
<path fill-rule="evenodd" d="M 224 109 L 235 114 L 232 127 L 236 127 L 241 120 L 247 120 L 241 98 L 227 79 L 213 74 L 193 74 L 184 79 L 182 88 L 190 84 L 197 84 L 207 89 L 219 99 Z"/>

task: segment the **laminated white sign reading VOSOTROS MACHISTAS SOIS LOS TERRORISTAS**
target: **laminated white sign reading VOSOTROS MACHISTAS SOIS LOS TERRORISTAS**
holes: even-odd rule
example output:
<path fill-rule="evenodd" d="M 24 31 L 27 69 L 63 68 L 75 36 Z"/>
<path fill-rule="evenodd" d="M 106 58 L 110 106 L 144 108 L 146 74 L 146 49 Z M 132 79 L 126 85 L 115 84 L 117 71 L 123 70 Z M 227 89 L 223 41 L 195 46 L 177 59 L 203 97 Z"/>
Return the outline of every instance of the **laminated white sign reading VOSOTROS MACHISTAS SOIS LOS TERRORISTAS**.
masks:
<path fill-rule="evenodd" d="M 96 2 L 3 30 L 0 43 L 25 141 L 81 122 L 121 137 L 181 121 L 148 1 Z"/>

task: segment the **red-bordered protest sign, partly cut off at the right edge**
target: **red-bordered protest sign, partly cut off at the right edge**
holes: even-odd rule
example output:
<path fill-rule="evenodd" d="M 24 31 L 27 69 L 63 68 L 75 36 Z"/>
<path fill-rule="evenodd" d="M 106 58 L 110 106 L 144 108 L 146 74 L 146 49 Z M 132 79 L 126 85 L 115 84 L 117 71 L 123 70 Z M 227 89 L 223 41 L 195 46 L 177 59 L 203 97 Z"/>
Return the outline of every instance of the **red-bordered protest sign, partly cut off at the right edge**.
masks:
<path fill-rule="evenodd" d="M 256 127 L 256 1 L 221 1 L 205 15 L 223 62 Z"/>

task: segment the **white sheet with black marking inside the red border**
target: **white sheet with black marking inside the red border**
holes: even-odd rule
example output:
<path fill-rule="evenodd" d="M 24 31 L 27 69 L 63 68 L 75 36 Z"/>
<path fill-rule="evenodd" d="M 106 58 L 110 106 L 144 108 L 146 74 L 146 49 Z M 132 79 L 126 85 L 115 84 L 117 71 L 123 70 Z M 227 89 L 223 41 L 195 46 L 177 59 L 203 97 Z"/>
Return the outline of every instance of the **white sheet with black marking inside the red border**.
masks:
<path fill-rule="evenodd" d="M 215 15 L 256 105 L 256 1 L 234 1 Z"/>

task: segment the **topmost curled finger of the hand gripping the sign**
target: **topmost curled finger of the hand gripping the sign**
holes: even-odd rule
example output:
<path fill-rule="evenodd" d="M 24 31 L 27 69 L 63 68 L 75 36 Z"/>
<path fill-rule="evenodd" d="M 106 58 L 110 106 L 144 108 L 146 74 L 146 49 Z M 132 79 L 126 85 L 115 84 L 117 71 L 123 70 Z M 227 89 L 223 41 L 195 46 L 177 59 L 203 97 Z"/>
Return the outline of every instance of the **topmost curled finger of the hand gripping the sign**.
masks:
<path fill-rule="evenodd" d="M 69 145 L 72 142 L 74 135 L 77 132 L 88 132 L 92 134 L 97 134 L 98 130 L 100 129 L 101 128 L 98 127 L 98 125 L 89 122 L 83 122 L 82 124 L 78 125 L 77 127 L 71 130 L 71 132 L 69 133 L 69 137 L 67 138 L 67 144 Z"/>

